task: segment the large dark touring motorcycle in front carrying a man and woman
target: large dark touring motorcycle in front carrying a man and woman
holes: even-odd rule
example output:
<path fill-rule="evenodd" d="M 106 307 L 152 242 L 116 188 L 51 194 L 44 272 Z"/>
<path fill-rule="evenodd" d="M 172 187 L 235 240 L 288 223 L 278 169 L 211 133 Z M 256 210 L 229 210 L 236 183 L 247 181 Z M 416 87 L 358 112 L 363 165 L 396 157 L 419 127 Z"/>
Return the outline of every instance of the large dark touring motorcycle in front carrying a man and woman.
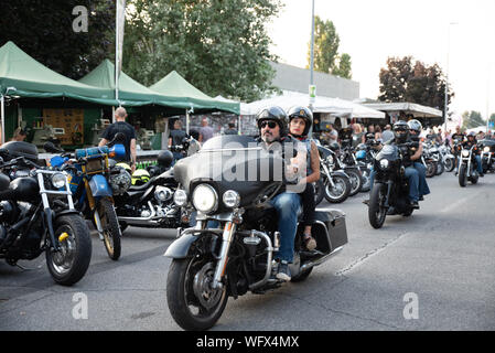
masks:
<path fill-rule="evenodd" d="M 237 147 L 228 148 L 229 142 Z M 172 259 L 166 279 L 169 309 L 185 330 L 212 328 L 229 297 L 265 293 L 281 286 L 272 278 L 280 234 L 269 201 L 284 184 L 282 178 L 275 176 L 283 161 L 251 143 L 256 142 L 248 136 L 214 137 L 198 153 L 174 167 L 180 184 L 175 203 L 197 211 L 196 226 L 179 229 L 179 238 L 165 253 Z M 229 175 L 233 168 L 243 171 L 238 175 L 243 180 Z M 312 227 L 316 249 L 304 250 L 301 232 L 297 233 L 290 264 L 293 282 L 306 279 L 313 267 L 347 243 L 342 212 L 319 211 L 316 217 Z"/>

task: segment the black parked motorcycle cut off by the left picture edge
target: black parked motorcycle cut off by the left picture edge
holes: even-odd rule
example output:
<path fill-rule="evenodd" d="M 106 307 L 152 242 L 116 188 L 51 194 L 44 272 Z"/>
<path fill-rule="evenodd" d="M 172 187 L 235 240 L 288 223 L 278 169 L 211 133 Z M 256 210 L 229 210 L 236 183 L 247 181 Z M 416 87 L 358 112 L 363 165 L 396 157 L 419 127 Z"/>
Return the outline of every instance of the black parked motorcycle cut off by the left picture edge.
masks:
<path fill-rule="evenodd" d="M 37 165 L 37 149 L 23 141 L 0 148 L 0 258 L 19 266 L 45 253 L 56 284 L 72 286 L 89 267 L 89 228 L 75 210 L 67 173 Z"/>

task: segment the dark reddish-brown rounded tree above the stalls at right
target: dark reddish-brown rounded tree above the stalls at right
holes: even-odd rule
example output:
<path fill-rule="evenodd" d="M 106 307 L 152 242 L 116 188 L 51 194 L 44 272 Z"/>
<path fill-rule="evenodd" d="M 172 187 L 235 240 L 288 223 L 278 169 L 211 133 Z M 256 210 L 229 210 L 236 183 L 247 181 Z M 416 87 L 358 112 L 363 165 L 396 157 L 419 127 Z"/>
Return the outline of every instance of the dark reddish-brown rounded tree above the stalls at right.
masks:
<path fill-rule="evenodd" d="M 438 64 L 413 62 L 412 56 L 389 57 L 387 67 L 380 69 L 381 101 L 409 101 L 443 110 L 445 78 Z M 449 87 L 448 104 L 454 93 Z"/>

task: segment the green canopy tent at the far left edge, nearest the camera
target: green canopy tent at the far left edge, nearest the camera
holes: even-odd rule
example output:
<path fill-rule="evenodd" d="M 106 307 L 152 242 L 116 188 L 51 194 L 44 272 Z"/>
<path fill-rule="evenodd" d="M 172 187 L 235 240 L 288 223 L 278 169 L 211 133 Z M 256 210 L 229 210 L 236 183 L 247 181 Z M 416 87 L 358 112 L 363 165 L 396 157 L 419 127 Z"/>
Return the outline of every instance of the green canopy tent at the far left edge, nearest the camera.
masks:
<path fill-rule="evenodd" d="M 97 88 L 65 77 L 24 53 L 12 42 L 0 47 L 0 104 L 4 141 L 4 98 L 67 97 L 93 104 L 118 106 L 111 89 Z"/>

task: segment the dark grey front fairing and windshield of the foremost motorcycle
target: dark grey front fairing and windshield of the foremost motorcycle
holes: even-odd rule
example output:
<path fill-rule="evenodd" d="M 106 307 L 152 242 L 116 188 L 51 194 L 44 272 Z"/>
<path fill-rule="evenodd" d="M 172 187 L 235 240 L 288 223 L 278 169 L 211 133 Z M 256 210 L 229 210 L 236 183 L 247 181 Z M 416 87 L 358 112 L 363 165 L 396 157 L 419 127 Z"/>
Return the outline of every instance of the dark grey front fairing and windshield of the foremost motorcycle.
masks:
<path fill-rule="evenodd" d="M 173 174 L 189 194 L 200 183 L 215 188 L 219 197 L 227 190 L 240 195 L 240 206 L 251 203 L 266 188 L 283 182 L 283 161 L 248 136 L 209 139 L 200 152 L 179 160 Z"/>

